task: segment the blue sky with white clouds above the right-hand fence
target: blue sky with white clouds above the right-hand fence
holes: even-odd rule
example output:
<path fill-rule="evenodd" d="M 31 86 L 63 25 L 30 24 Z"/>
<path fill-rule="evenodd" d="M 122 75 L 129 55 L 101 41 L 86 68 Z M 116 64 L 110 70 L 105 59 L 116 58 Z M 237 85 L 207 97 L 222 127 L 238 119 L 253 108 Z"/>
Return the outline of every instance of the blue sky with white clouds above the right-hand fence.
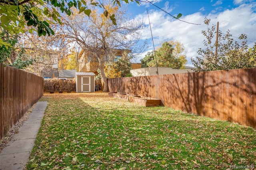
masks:
<path fill-rule="evenodd" d="M 207 28 L 203 23 L 205 17 L 211 19 L 211 24 L 216 25 L 218 21 L 219 29 L 222 32 L 230 30 L 234 38 L 240 34 L 247 34 L 249 47 L 256 42 L 256 0 L 156 0 L 154 4 L 173 16 L 181 13 L 181 20 L 200 25 L 175 20 L 149 3 L 142 3 L 139 6 L 136 2 L 130 2 L 127 5 L 130 17 L 143 20 L 145 23 L 142 40 L 149 44 L 147 51 L 153 49 L 147 9 L 155 46 L 164 41 L 178 40 L 186 47 L 187 65 L 190 66 L 191 58 L 197 56 L 198 48 L 204 48 L 204 36 L 201 32 Z M 135 62 L 139 62 L 147 51 Z"/>

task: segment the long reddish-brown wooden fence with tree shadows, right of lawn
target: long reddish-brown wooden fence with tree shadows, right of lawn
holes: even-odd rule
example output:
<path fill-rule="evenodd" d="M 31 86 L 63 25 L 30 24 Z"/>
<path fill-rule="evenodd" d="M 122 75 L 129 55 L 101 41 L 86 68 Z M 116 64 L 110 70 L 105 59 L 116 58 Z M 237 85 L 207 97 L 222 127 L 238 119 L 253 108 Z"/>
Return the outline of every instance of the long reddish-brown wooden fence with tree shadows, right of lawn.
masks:
<path fill-rule="evenodd" d="M 256 127 L 256 68 L 108 80 L 111 92 L 161 99 L 166 107 Z"/>

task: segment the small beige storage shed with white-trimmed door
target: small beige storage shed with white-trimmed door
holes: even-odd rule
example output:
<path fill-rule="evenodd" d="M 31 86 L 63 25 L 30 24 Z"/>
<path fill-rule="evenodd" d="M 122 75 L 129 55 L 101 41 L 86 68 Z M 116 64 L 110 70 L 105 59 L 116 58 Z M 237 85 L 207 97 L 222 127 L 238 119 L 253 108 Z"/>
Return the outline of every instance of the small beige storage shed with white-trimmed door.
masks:
<path fill-rule="evenodd" d="M 76 93 L 94 91 L 95 74 L 92 72 L 76 72 Z"/>

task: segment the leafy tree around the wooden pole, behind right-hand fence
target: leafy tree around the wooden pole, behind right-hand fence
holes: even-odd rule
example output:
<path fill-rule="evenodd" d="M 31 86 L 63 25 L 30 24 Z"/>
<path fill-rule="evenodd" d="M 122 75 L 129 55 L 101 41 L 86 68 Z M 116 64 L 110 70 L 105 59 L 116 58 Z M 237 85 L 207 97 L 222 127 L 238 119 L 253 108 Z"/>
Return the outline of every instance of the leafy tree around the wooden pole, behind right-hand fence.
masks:
<path fill-rule="evenodd" d="M 207 18 L 205 18 L 204 24 L 207 25 L 207 30 L 202 31 L 206 38 L 203 42 L 206 48 L 200 48 L 197 52 L 199 56 L 191 59 L 192 64 L 196 67 L 195 71 L 256 67 L 256 43 L 254 47 L 248 49 L 247 36 L 241 34 L 239 41 L 235 41 L 229 30 L 226 34 L 219 30 L 218 41 L 216 41 L 216 26 L 212 24 L 210 27 L 210 19 Z"/>

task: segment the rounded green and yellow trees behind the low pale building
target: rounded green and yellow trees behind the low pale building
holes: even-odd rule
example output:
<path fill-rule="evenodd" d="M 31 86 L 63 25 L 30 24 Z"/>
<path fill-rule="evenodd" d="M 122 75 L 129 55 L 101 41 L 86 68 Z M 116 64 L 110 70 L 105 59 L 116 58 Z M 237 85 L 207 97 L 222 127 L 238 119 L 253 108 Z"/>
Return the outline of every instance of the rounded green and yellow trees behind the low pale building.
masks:
<path fill-rule="evenodd" d="M 187 60 L 182 43 L 177 41 L 164 42 L 155 52 L 156 57 L 154 51 L 151 51 L 140 60 L 142 67 L 156 67 L 156 61 L 158 67 L 171 67 L 173 69 L 185 67 Z"/>

